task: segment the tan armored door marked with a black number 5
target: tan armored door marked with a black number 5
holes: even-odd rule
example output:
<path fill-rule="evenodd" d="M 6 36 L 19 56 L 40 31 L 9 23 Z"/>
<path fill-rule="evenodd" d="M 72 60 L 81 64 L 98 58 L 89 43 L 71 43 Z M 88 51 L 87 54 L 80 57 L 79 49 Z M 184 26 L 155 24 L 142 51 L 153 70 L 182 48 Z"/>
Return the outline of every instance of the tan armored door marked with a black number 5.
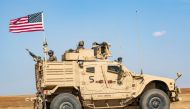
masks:
<path fill-rule="evenodd" d="M 101 64 L 96 64 L 95 62 L 84 63 L 82 78 L 83 93 L 104 93 L 106 84 Z"/>

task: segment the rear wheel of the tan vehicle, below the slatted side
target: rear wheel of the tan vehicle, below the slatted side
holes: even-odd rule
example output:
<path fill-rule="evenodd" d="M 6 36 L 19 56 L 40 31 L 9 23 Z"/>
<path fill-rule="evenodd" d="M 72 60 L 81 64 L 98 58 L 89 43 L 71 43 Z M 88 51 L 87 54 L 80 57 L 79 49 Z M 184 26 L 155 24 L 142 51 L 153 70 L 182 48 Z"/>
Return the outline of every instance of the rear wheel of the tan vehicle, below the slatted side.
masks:
<path fill-rule="evenodd" d="M 81 109 L 81 103 L 74 95 L 62 93 L 52 100 L 50 109 Z"/>

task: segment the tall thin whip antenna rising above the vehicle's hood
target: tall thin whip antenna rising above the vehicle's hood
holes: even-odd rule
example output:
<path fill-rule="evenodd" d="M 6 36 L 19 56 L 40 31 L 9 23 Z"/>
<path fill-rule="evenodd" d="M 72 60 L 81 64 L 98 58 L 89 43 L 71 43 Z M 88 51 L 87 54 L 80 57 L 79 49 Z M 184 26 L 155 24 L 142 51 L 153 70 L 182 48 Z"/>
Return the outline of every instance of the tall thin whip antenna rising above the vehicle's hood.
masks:
<path fill-rule="evenodd" d="M 142 35 L 140 32 L 140 26 L 139 26 L 139 10 L 135 11 L 136 13 L 136 30 L 137 30 L 137 47 L 139 49 L 139 54 L 140 54 L 140 62 L 139 62 L 139 67 L 140 67 L 140 71 L 141 74 L 143 74 L 143 63 L 144 63 L 144 59 L 143 59 L 143 46 L 142 46 Z"/>

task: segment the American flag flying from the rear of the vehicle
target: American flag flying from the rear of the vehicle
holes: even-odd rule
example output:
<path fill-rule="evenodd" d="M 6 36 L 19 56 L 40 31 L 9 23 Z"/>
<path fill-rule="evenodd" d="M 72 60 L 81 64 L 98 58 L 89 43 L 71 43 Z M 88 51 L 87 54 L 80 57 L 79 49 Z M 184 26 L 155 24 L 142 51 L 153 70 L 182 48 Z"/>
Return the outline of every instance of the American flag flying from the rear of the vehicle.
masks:
<path fill-rule="evenodd" d="M 13 33 L 44 31 L 42 14 L 38 12 L 10 20 L 9 31 Z"/>

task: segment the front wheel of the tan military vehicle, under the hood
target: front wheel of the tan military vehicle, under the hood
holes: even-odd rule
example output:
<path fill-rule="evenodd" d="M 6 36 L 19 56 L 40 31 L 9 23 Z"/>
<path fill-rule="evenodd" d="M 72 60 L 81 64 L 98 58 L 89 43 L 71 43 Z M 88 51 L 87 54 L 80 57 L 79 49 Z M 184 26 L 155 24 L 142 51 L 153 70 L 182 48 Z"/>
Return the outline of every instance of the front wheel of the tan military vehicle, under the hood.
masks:
<path fill-rule="evenodd" d="M 150 89 L 144 92 L 140 98 L 141 109 L 169 109 L 168 95 L 160 89 Z"/>

